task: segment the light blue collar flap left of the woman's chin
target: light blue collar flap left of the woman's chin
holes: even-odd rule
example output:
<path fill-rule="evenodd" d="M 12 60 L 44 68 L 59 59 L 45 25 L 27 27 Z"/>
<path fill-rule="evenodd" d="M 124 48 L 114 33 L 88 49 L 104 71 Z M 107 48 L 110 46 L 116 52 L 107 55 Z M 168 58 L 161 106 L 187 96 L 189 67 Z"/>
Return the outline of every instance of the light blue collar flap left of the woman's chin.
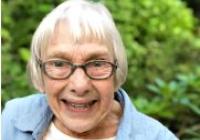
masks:
<path fill-rule="evenodd" d="M 12 120 L 17 129 L 32 133 L 35 139 L 41 137 L 53 118 L 53 113 L 48 106 L 46 95 L 43 95 L 41 102 L 40 108 L 30 109 L 29 112 Z"/>

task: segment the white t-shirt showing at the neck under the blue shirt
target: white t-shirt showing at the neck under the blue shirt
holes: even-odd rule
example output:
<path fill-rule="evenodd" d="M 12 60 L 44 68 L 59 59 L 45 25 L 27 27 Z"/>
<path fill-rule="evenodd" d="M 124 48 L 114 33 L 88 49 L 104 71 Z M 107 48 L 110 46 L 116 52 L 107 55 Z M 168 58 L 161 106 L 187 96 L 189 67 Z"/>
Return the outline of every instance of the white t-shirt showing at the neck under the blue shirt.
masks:
<path fill-rule="evenodd" d="M 115 139 L 116 139 L 116 136 L 105 138 L 105 139 L 97 139 L 97 140 L 115 140 Z M 52 122 L 49 126 L 48 131 L 43 137 L 43 140 L 83 140 L 83 139 L 75 138 L 75 137 L 64 134 L 58 128 L 56 128 L 54 123 Z"/>

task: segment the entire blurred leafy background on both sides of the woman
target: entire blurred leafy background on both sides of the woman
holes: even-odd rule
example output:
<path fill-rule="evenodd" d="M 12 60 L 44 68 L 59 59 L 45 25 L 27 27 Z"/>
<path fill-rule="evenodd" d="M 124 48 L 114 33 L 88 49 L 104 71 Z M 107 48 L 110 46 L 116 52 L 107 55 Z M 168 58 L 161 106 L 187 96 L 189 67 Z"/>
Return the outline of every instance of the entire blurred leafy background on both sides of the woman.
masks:
<path fill-rule="evenodd" d="M 37 92 L 26 64 L 41 19 L 63 0 L 2 0 L 1 105 Z M 95 0 L 101 1 L 101 0 Z M 200 140 L 200 0 L 104 0 L 126 46 L 123 88 L 182 140 Z"/>

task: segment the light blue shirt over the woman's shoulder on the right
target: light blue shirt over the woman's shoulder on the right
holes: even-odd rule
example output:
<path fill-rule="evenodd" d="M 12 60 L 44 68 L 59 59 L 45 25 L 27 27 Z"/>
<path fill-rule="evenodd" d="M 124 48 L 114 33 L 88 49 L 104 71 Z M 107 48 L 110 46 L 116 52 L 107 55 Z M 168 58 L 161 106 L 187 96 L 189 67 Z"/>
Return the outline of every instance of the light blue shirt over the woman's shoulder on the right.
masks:
<path fill-rule="evenodd" d="M 120 128 L 127 136 L 130 135 L 134 140 L 177 140 L 176 136 L 158 120 L 138 111 L 125 91 L 121 90 L 120 93 L 120 101 L 124 106 Z"/>

